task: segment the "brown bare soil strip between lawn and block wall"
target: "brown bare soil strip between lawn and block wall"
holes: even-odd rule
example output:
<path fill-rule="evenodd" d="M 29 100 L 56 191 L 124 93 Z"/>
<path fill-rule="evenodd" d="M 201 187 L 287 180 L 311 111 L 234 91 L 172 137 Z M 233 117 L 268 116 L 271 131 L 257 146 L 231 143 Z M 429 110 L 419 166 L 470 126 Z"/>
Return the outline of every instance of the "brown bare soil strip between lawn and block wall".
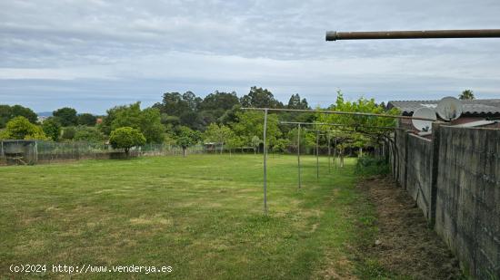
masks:
<path fill-rule="evenodd" d="M 391 274 L 414 279 L 461 279 L 458 261 L 429 227 L 423 212 L 392 179 L 359 185 L 376 208 L 378 233 L 365 254 Z"/>

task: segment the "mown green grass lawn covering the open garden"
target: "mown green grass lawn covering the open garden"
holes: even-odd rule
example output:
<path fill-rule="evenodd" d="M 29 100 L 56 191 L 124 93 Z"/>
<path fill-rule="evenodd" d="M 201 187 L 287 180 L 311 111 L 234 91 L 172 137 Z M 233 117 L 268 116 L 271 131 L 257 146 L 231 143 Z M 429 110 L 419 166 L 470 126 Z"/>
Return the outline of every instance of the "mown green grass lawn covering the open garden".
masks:
<path fill-rule="evenodd" d="M 190 155 L 0 168 L 0 278 L 10 265 L 172 266 L 175 279 L 305 279 L 356 274 L 372 208 L 355 159 Z M 370 227 L 367 227 L 370 228 Z M 67 277 L 48 272 L 30 277 Z M 110 273 L 76 278 L 142 278 Z"/>

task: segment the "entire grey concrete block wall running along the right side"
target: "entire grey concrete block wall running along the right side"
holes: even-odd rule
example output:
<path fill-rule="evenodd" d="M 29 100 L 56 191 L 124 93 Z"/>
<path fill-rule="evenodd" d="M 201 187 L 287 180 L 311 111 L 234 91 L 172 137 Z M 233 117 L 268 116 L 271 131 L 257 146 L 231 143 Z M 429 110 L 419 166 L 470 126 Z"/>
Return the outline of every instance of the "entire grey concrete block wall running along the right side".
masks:
<path fill-rule="evenodd" d="M 436 126 L 395 132 L 396 181 L 478 279 L 500 279 L 500 130 Z"/>

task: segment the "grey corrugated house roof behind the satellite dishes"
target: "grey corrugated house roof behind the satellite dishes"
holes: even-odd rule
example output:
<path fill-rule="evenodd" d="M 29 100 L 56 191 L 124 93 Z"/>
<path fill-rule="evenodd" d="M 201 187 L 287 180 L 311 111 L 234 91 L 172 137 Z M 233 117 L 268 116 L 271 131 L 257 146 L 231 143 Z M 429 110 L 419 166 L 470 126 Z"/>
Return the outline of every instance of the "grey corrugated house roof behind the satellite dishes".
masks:
<path fill-rule="evenodd" d="M 389 101 L 387 108 L 397 108 L 404 115 L 411 115 L 417 109 L 435 108 L 439 101 Z M 462 101 L 463 114 L 467 115 L 500 115 L 500 99 L 477 99 Z"/>

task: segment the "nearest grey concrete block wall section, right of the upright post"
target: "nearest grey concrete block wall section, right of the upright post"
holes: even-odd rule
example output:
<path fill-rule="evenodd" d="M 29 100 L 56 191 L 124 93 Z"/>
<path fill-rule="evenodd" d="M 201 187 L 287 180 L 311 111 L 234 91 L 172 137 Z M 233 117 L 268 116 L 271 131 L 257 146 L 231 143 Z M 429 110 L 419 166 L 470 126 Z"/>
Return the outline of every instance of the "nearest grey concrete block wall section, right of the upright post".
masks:
<path fill-rule="evenodd" d="M 440 128 L 435 230 L 465 270 L 500 279 L 500 130 Z"/>

